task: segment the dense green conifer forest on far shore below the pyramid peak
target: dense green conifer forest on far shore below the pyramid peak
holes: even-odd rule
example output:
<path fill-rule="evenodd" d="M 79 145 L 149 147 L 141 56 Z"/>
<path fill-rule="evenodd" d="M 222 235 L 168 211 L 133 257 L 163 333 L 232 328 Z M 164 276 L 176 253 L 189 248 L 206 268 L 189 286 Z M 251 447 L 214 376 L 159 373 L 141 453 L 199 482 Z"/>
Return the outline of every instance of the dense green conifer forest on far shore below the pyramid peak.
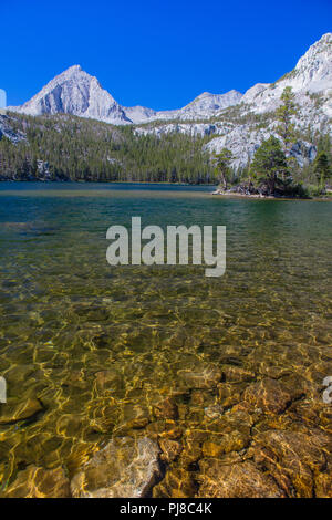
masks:
<path fill-rule="evenodd" d="M 70 115 L 10 114 L 27 142 L 0 141 L 1 179 L 211 183 L 214 167 L 203 152 L 207 138 L 173 133 L 138 136 Z"/>

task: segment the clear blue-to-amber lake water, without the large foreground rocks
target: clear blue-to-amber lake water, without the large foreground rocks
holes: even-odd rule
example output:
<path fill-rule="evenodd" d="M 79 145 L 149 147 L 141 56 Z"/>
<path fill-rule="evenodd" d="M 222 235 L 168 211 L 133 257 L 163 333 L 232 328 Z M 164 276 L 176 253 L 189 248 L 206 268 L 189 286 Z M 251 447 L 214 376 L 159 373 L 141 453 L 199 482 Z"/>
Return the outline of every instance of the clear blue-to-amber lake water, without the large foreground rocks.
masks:
<path fill-rule="evenodd" d="M 205 409 L 220 402 L 219 389 L 184 391 L 183 370 L 301 376 L 315 385 L 309 398 L 320 406 L 322 377 L 332 375 L 331 202 L 211 191 L 0 184 L 2 489 L 30 464 L 73 472 L 112 435 L 149 435 L 157 396 L 176 396 L 184 431 L 209 431 Z M 226 226 L 226 274 L 108 266 L 106 230 L 132 216 L 143 226 Z M 104 392 L 95 374 L 106 370 L 116 377 Z M 243 391 L 241 381 L 225 384 L 234 395 Z M 6 407 L 14 414 L 29 398 L 42 404 L 39 413 L 1 424 Z M 137 416 L 143 426 L 132 427 Z M 181 458 L 174 464 L 185 467 Z"/>

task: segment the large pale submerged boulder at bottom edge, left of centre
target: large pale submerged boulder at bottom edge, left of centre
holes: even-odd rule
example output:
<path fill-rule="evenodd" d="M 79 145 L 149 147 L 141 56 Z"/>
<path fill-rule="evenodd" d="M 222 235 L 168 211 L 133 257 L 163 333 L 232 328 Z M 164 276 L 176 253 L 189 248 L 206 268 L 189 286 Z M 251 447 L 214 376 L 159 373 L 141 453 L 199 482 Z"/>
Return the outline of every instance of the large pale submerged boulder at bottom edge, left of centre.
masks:
<path fill-rule="evenodd" d="M 71 481 L 77 498 L 141 498 L 160 478 L 159 448 L 147 437 L 112 439 Z"/>

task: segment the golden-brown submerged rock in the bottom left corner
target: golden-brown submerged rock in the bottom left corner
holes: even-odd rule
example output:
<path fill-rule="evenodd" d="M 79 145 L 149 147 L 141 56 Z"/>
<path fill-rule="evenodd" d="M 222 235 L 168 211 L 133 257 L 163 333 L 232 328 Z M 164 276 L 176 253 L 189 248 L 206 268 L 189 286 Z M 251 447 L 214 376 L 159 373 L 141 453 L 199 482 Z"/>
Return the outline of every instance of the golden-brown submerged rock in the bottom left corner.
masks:
<path fill-rule="evenodd" d="M 68 498 L 70 481 L 62 468 L 29 466 L 2 495 L 4 498 Z"/>

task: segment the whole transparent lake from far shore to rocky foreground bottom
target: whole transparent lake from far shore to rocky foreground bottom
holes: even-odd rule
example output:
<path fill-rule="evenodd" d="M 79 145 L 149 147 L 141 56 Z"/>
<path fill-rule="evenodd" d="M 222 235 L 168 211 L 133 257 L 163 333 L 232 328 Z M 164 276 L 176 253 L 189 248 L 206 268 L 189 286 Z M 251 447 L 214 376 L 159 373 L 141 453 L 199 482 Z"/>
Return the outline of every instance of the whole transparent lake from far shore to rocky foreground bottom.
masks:
<path fill-rule="evenodd" d="M 0 184 L 1 497 L 332 497 L 332 205 Z M 227 269 L 106 230 L 227 227 Z"/>

